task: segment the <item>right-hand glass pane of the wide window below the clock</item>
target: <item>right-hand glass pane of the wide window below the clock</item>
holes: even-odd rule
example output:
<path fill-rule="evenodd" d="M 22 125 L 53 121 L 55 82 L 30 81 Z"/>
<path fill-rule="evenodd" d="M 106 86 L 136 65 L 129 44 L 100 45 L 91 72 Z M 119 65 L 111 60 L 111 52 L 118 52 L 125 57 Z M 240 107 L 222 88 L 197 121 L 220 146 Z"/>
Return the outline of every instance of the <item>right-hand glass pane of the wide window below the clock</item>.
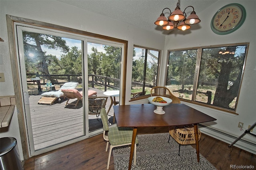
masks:
<path fill-rule="evenodd" d="M 196 101 L 235 109 L 245 49 L 246 45 L 202 49 Z"/>

